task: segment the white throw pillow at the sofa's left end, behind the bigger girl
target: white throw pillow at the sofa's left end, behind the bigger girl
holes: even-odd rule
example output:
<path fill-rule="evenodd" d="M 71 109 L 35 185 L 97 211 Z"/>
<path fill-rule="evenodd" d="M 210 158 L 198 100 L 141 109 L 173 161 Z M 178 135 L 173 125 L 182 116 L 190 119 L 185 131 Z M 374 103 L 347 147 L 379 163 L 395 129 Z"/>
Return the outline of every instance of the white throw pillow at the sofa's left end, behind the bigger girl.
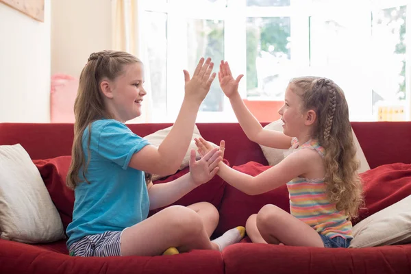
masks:
<path fill-rule="evenodd" d="M 45 183 L 21 145 L 0 146 L 0 238 L 29 244 L 64 238 Z"/>

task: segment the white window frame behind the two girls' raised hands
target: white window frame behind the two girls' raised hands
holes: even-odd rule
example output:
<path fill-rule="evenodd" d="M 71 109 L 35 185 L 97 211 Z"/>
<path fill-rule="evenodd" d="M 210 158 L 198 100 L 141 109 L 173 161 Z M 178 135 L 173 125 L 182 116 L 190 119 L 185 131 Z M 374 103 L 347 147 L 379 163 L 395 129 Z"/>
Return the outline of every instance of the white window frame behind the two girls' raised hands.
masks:
<path fill-rule="evenodd" d="M 364 0 L 365 1 L 365 0 Z M 290 0 L 287 7 L 247 7 L 246 0 L 227 0 L 227 5 L 213 6 L 212 3 L 202 5 L 198 1 L 189 0 L 169 0 L 166 3 L 158 4 L 156 1 L 143 1 L 142 8 L 150 12 L 164 12 L 167 14 L 167 115 L 161 121 L 154 123 L 172 123 L 177 118 L 179 107 L 184 98 L 184 81 L 182 81 L 182 70 L 187 68 L 188 49 L 182 45 L 187 45 L 186 19 L 223 20 L 224 21 L 224 56 L 232 67 L 233 75 L 244 74 L 238 88 L 243 99 L 247 98 L 247 54 L 245 40 L 246 21 L 248 17 L 290 17 L 290 60 L 297 66 L 310 66 L 310 16 L 318 14 L 313 1 Z M 411 4 L 407 0 L 368 0 L 364 4 L 369 6 L 370 12 L 392 8 L 399 5 L 407 5 L 406 29 L 411 29 Z M 356 3 L 353 1 L 353 3 Z M 185 4 L 185 5 L 184 5 Z M 182 14 L 184 5 L 184 14 Z M 334 12 L 336 12 L 334 10 Z M 233 15 L 234 14 L 234 15 Z M 332 16 L 332 11 L 329 13 Z M 371 25 L 370 25 L 371 27 Z M 411 33 L 411 31 L 410 31 Z M 173 37 L 170 39 L 169 37 Z M 307 47 L 301 47 L 307 45 Z M 406 45 L 411 46 L 411 35 L 406 36 Z M 411 120 L 411 51 L 406 51 L 406 120 Z M 213 60 L 216 65 L 220 60 Z M 192 73 L 192 71 L 190 71 Z M 218 81 L 214 79 L 214 81 Z M 371 103 L 372 105 L 372 103 Z M 372 110 L 371 110 L 372 111 Z M 359 121 L 363 121 L 359 120 Z M 365 119 L 366 120 L 366 119 Z M 229 100 L 223 98 L 223 112 L 199 112 L 197 121 L 210 123 L 236 122 L 236 117 L 232 111 Z"/>

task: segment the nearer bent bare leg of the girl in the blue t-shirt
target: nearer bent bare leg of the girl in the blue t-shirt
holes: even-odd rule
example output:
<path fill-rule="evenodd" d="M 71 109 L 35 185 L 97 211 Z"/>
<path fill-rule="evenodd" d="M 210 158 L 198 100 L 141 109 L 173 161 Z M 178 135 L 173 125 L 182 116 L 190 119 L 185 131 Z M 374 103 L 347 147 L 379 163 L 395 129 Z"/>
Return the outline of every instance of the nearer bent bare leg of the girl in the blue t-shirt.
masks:
<path fill-rule="evenodd" d="M 144 221 L 128 227 L 121 236 L 122 256 L 155 256 L 169 247 L 180 252 L 216 249 L 199 214 L 184 206 L 165 208 Z"/>

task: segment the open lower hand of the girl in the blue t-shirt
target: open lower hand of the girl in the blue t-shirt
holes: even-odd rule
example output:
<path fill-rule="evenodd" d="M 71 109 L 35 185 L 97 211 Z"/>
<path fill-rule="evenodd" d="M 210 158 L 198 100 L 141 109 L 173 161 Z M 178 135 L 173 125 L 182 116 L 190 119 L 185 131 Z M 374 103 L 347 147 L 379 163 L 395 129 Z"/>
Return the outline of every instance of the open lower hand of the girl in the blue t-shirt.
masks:
<path fill-rule="evenodd" d="M 200 160 L 195 160 L 195 150 L 190 151 L 190 177 L 197 186 L 204 184 L 219 171 L 219 162 L 223 160 L 219 149 L 212 149 Z"/>

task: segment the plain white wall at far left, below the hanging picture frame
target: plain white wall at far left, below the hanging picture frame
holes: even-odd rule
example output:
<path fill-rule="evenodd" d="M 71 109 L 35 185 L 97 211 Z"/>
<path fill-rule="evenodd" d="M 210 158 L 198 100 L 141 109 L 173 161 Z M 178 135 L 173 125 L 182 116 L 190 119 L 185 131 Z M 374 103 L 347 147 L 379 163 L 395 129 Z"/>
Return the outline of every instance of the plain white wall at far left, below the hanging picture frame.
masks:
<path fill-rule="evenodd" d="M 0 123 L 50 120 L 50 2 L 44 22 L 0 3 Z"/>

